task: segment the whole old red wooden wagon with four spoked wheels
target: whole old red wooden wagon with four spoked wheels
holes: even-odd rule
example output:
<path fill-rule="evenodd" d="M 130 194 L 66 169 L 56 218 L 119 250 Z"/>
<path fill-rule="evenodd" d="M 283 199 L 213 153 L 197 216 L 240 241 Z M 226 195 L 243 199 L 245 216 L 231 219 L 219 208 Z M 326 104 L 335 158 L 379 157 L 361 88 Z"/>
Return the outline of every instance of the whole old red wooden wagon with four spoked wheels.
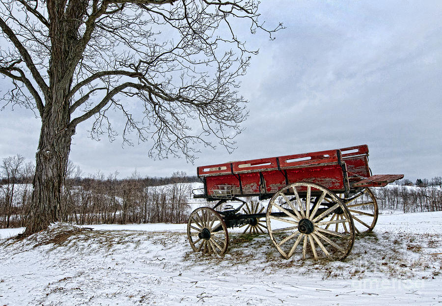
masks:
<path fill-rule="evenodd" d="M 285 258 L 343 260 L 355 234 L 373 230 L 376 198 L 368 187 L 383 187 L 402 174 L 371 175 L 368 146 L 197 167 L 204 188 L 194 198 L 218 201 L 189 218 L 187 232 L 196 252 L 222 255 L 228 227 L 269 233 Z M 258 200 L 268 200 L 267 208 Z M 233 208 L 229 201 L 242 204 Z"/>

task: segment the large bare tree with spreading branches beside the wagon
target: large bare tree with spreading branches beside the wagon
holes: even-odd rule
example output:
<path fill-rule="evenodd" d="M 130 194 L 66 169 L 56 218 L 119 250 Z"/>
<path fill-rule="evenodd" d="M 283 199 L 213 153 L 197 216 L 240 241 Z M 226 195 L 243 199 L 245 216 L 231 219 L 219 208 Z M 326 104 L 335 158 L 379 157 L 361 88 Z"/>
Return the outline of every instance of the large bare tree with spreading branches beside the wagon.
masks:
<path fill-rule="evenodd" d="M 60 219 L 71 139 L 89 118 L 93 138 L 113 140 L 109 113 L 121 111 L 124 143 L 135 132 L 151 156 L 193 160 L 213 137 L 234 148 L 247 116 L 237 79 L 255 52 L 232 22 L 271 38 L 282 28 L 263 28 L 257 10 L 253 0 L 1 1 L 0 73 L 12 82 L 4 99 L 41 117 L 25 235 Z"/>

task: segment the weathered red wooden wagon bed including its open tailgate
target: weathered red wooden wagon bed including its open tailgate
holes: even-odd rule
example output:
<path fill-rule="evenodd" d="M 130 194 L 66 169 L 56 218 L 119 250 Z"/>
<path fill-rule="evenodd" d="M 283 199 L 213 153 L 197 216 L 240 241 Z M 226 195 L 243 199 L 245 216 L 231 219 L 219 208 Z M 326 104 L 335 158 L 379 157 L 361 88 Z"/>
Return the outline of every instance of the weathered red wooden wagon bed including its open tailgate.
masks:
<path fill-rule="evenodd" d="M 360 187 L 384 187 L 403 177 L 371 175 L 367 145 L 197 167 L 197 175 L 204 189 L 194 198 L 208 201 L 232 196 L 267 199 L 300 181 L 319 184 L 335 193 L 349 193 Z"/>

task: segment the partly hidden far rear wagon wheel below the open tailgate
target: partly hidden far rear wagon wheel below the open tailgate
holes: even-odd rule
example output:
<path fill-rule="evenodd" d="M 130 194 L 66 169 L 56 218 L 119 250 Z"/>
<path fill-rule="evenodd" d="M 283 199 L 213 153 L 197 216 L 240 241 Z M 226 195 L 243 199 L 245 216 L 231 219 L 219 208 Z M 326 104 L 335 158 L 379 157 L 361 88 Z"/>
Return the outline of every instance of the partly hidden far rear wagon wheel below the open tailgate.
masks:
<path fill-rule="evenodd" d="M 371 232 L 379 215 L 378 202 L 371 190 L 364 188 L 357 194 L 342 200 L 352 214 L 356 233 Z"/>

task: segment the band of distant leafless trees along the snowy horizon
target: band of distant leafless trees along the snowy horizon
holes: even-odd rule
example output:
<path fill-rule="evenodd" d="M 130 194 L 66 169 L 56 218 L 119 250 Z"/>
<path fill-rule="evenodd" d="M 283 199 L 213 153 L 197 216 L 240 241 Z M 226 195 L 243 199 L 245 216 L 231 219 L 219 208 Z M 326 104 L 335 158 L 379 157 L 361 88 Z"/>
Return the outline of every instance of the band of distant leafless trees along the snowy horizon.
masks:
<path fill-rule="evenodd" d="M 25 224 L 32 195 L 34 167 L 16 155 L 0 166 L 0 227 Z M 82 177 L 79 167 L 69 164 L 62 192 L 60 219 L 76 224 L 93 223 L 184 223 L 190 214 L 188 200 L 196 176 L 175 172 L 170 177 L 131 177 L 101 172 Z M 441 177 L 409 180 L 396 186 L 374 188 L 380 210 L 424 212 L 442 210 Z"/>

